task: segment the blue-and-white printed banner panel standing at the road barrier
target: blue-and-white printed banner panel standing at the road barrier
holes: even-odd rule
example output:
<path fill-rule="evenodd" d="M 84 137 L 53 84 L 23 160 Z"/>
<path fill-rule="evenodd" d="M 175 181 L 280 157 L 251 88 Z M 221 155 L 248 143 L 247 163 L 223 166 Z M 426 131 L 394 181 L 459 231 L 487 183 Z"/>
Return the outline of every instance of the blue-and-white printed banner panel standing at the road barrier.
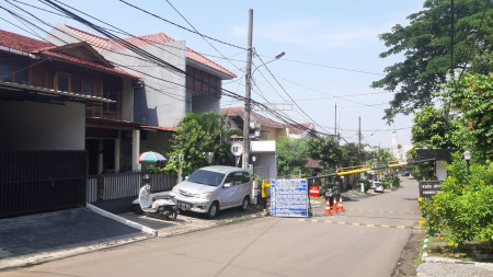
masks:
<path fill-rule="evenodd" d="M 271 216 L 308 217 L 306 180 L 273 180 L 271 184 Z"/>

